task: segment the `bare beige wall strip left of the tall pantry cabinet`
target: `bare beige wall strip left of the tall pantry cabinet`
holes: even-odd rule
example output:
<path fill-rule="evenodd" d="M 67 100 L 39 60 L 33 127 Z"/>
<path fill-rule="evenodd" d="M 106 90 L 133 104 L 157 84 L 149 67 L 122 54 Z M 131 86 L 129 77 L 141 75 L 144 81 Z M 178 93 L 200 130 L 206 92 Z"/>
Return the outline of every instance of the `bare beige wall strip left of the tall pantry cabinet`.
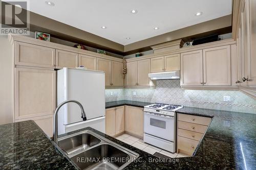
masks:
<path fill-rule="evenodd" d="M 12 45 L 0 36 L 0 125 L 12 123 Z"/>

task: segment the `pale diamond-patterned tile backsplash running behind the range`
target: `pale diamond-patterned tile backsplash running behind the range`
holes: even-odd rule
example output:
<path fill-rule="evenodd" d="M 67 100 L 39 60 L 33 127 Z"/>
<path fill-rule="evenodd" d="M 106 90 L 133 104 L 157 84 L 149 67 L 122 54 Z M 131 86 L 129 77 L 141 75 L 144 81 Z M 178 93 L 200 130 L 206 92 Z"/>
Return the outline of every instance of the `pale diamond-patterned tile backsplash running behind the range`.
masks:
<path fill-rule="evenodd" d="M 223 96 L 230 96 L 231 101 L 224 102 Z M 180 80 L 158 80 L 155 89 L 106 89 L 105 99 L 106 102 L 133 100 L 256 113 L 256 100 L 240 91 L 182 90 Z"/>

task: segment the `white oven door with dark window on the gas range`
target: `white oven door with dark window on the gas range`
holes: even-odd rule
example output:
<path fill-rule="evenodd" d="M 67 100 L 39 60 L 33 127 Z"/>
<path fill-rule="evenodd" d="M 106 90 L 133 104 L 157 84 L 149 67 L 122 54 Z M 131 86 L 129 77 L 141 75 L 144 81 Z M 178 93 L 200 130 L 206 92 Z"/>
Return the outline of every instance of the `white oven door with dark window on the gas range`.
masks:
<path fill-rule="evenodd" d="M 144 133 L 174 141 L 175 125 L 175 116 L 144 112 Z"/>

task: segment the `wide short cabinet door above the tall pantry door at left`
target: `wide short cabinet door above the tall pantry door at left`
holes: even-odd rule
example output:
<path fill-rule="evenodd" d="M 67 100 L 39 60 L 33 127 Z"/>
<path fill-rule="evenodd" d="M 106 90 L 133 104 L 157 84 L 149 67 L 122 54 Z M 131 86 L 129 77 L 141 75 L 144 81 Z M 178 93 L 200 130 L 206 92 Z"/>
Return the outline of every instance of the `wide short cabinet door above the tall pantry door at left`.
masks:
<path fill-rule="evenodd" d="M 16 41 L 15 64 L 54 68 L 55 49 Z"/>

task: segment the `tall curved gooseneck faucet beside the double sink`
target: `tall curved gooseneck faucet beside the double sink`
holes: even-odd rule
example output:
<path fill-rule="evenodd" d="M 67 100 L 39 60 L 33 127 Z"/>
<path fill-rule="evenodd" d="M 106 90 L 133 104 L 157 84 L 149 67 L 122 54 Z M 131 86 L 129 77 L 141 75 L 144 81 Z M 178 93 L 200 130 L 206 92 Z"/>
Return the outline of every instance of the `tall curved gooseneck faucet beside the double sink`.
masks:
<path fill-rule="evenodd" d="M 81 111 L 82 111 L 82 120 L 83 121 L 86 121 L 87 118 L 86 118 L 86 112 L 84 112 L 84 109 L 81 105 L 81 103 L 79 103 L 78 101 L 74 101 L 74 100 L 68 100 L 68 101 L 65 101 L 65 102 L 62 102 L 58 107 L 57 109 L 55 110 L 55 113 L 54 113 L 54 126 L 53 126 L 53 137 L 52 137 L 52 140 L 58 145 L 58 111 L 59 109 L 61 108 L 61 106 L 65 105 L 66 103 L 70 103 L 70 102 L 73 102 L 73 103 L 76 103 L 80 106 L 81 108 Z"/>

